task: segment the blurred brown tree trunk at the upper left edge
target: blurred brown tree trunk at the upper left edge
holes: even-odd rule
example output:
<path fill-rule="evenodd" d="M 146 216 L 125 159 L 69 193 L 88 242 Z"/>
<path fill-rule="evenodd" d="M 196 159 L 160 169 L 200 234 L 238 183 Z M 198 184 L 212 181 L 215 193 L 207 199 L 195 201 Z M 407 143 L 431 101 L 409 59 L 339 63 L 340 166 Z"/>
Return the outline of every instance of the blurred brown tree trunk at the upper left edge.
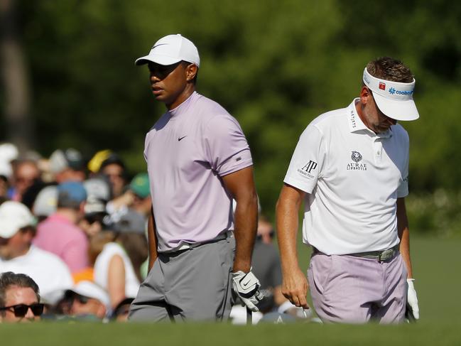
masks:
<path fill-rule="evenodd" d="M 34 146 L 30 89 L 19 39 L 14 0 L 0 0 L 0 69 L 4 85 L 6 141 L 20 153 Z"/>

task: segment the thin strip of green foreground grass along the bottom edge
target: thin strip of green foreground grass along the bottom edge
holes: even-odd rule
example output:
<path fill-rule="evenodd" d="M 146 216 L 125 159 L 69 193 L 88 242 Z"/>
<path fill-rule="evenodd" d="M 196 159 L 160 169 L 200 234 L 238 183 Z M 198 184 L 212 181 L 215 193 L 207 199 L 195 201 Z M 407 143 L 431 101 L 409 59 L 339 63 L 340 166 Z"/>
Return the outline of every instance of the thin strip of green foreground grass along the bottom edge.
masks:
<path fill-rule="evenodd" d="M 459 323 L 416 325 L 2 325 L 2 345 L 460 345 Z"/>

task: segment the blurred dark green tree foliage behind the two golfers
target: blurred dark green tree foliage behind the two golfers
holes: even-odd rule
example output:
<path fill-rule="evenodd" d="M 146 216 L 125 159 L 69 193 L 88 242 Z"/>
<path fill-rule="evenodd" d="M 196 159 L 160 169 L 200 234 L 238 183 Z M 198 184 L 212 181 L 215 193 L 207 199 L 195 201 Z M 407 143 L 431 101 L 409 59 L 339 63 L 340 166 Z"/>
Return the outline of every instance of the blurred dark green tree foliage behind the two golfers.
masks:
<path fill-rule="evenodd" d="M 19 1 L 38 151 L 112 148 L 145 169 L 143 140 L 163 113 L 134 60 L 161 36 L 199 48 L 197 89 L 236 117 L 268 215 L 310 120 L 357 96 L 364 65 L 390 55 L 416 75 L 411 190 L 460 190 L 461 3 L 304 0 Z M 1 99 L 1 97 L 0 97 Z"/>

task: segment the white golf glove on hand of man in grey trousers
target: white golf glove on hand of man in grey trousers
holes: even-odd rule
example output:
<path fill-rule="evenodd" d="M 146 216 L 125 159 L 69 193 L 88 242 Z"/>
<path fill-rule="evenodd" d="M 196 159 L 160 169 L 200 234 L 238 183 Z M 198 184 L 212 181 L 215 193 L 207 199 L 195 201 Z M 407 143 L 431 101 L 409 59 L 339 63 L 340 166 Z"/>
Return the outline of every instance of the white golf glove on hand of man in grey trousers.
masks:
<path fill-rule="evenodd" d="M 232 288 L 234 288 L 234 292 L 254 312 L 259 311 L 256 305 L 264 298 L 258 291 L 259 286 L 259 280 L 256 279 L 256 276 L 251 271 L 248 273 L 244 273 L 243 271 L 232 273 Z"/>

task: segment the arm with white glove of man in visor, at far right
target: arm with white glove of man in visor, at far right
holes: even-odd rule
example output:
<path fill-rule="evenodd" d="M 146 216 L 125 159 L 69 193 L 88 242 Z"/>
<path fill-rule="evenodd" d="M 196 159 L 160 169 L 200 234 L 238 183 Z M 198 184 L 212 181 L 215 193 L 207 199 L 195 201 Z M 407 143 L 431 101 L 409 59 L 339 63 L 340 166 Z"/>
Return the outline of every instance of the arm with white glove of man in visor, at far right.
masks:
<path fill-rule="evenodd" d="M 406 216 L 405 198 L 397 198 L 397 229 L 398 238 L 400 238 L 400 253 L 406 266 L 407 274 L 407 302 L 411 307 L 412 313 L 416 320 L 419 319 L 418 296 L 413 285 L 413 269 L 411 267 L 410 256 L 410 230 L 408 229 L 408 217 Z"/>

